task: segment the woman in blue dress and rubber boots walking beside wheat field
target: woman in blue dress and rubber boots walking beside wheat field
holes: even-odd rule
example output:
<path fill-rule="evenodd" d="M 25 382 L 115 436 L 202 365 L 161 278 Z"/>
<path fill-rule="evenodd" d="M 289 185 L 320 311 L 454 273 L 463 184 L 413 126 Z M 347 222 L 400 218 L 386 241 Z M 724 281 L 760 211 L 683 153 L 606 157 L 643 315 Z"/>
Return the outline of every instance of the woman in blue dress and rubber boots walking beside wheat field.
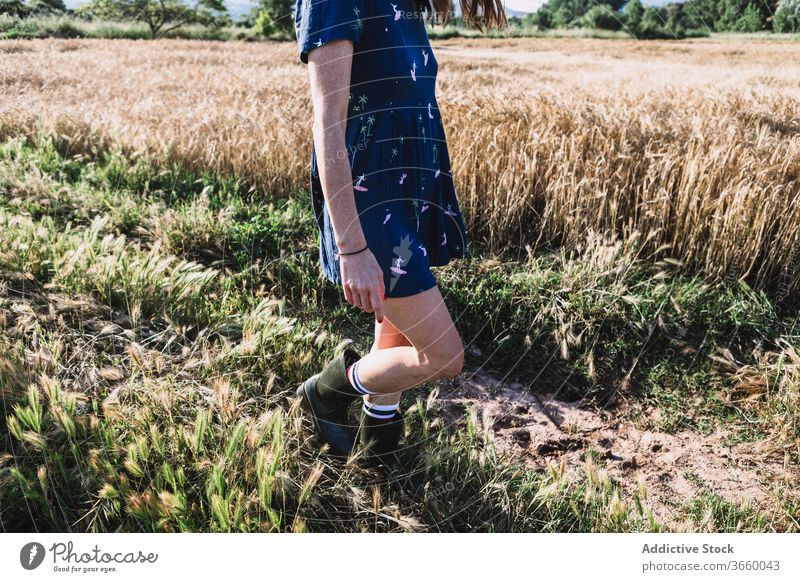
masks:
<path fill-rule="evenodd" d="M 475 28 L 506 23 L 501 0 L 460 1 Z M 359 441 L 404 489 L 420 483 L 396 454 L 401 393 L 456 376 L 464 361 L 431 267 L 470 256 L 424 23 L 425 13 L 446 15 L 450 0 L 426 2 L 297 0 L 295 12 L 314 111 L 321 268 L 349 303 L 375 315 L 372 350 L 345 349 L 297 394 L 332 454 L 347 456 Z M 347 416 L 357 399 L 354 434 Z"/>

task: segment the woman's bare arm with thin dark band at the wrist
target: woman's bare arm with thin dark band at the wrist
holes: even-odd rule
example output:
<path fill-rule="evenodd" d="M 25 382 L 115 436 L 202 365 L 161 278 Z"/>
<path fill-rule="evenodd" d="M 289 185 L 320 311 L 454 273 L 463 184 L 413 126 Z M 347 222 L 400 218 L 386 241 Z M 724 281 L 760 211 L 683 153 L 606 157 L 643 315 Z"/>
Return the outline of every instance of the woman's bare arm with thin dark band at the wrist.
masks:
<path fill-rule="evenodd" d="M 308 53 L 317 167 L 336 246 L 342 253 L 358 251 L 367 244 L 345 144 L 352 60 L 349 40 L 335 40 Z M 378 321 L 383 321 L 383 272 L 372 252 L 340 255 L 339 261 L 347 301 L 369 313 L 374 311 Z"/>

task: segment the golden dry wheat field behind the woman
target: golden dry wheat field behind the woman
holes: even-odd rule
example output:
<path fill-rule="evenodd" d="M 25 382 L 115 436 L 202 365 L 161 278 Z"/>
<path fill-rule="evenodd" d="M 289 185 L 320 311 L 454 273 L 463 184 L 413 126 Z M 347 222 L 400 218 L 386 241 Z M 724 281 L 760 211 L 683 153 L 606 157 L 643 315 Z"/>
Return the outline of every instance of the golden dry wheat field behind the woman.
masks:
<path fill-rule="evenodd" d="M 449 40 L 438 95 L 456 186 L 492 251 L 590 227 L 711 277 L 800 283 L 800 46 Z M 303 184 L 310 103 L 293 43 L 0 43 L 0 135 L 55 128 L 158 159 Z"/>

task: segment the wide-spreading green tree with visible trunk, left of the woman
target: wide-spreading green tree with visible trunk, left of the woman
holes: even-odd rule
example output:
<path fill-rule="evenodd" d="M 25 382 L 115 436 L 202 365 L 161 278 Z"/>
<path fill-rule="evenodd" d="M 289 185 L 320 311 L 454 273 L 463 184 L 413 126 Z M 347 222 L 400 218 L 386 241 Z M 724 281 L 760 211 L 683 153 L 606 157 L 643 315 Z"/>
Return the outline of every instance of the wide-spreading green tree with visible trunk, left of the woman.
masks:
<path fill-rule="evenodd" d="M 144 22 L 154 37 L 186 24 L 216 26 L 228 15 L 224 0 L 90 0 L 79 12 L 104 20 Z"/>

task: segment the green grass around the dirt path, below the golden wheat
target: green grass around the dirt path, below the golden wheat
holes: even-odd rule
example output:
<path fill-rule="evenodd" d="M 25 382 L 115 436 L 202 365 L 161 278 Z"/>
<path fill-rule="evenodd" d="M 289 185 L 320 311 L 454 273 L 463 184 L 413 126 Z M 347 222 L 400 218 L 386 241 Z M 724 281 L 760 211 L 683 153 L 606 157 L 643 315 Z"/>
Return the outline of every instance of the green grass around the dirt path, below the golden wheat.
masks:
<path fill-rule="evenodd" d="M 642 256 L 635 240 L 589 235 L 582 249 L 504 262 L 474 249 L 437 271 L 468 365 L 560 387 L 559 398 L 624 399 L 642 426 L 653 421 L 639 411 L 655 407 L 659 430 L 771 435 L 780 418 L 776 443 L 797 453 L 792 310 Z M 408 453 L 429 483 L 422 500 L 310 446 L 293 387 L 345 342 L 367 351 L 371 316 L 320 274 L 302 191 L 264 196 L 113 148 L 89 158 L 48 137 L 9 139 L 0 273 L 5 529 L 663 529 L 644 495 L 623 494 L 591 455 L 577 477 L 540 473 L 469 415 L 445 425 L 427 406 L 433 384 L 404 400 Z M 770 389 L 732 400 L 739 384 L 712 359 L 720 349 Z M 698 511 L 687 515 L 706 527 Z"/>

